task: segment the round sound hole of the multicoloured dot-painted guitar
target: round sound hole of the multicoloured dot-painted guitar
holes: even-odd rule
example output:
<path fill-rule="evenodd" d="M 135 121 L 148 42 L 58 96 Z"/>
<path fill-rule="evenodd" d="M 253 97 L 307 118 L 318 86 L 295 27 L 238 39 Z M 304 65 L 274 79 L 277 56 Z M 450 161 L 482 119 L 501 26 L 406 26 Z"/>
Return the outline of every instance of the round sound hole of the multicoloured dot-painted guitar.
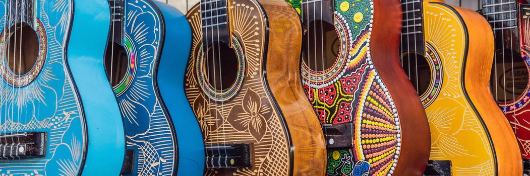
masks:
<path fill-rule="evenodd" d="M 303 62 L 313 71 L 325 71 L 333 66 L 339 53 L 340 42 L 335 27 L 325 21 L 308 23 L 303 36 Z"/>

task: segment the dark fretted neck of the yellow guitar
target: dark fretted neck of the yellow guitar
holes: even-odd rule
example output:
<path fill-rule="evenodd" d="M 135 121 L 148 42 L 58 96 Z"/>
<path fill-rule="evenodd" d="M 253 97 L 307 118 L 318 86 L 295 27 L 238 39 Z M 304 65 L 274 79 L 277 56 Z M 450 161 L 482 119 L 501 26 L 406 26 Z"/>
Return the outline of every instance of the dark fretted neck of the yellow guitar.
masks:
<path fill-rule="evenodd" d="M 401 0 L 403 8 L 402 53 L 425 53 L 422 4 L 422 0 Z"/>

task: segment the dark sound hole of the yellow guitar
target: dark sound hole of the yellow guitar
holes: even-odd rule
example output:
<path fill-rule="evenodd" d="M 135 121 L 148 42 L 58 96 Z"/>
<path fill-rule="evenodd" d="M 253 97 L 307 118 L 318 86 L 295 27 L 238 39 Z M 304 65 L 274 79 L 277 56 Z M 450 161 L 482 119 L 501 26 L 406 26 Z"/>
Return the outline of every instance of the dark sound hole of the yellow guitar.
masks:
<path fill-rule="evenodd" d="M 412 85 L 422 95 L 429 89 L 432 80 L 431 69 L 427 59 L 418 53 L 407 53 L 401 58 L 405 73 L 409 76 Z"/>

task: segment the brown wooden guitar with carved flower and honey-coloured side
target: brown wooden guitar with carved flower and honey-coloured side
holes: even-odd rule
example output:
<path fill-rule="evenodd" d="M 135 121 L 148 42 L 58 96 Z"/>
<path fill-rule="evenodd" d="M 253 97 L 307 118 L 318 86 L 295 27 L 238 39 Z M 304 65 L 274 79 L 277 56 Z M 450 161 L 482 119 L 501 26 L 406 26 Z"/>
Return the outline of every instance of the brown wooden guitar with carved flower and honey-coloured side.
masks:
<path fill-rule="evenodd" d="M 202 0 L 187 18 L 185 92 L 206 144 L 205 175 L 324 175 L 324 136 L 299 84 L 293 7 Z"/>

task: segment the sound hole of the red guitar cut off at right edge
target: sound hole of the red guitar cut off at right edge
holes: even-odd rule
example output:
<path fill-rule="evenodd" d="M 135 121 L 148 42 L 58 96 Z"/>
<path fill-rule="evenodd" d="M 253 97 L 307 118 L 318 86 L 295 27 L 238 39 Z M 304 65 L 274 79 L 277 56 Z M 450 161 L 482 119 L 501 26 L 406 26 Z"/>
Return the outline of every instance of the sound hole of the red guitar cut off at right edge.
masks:
<path fill-rule="evenodd" d="M 525 94 L 528 70 L 520 54 L 509 49 L 497 51 L 490 83 L 493 98 L 500 102 L 517 100 Z"/>

